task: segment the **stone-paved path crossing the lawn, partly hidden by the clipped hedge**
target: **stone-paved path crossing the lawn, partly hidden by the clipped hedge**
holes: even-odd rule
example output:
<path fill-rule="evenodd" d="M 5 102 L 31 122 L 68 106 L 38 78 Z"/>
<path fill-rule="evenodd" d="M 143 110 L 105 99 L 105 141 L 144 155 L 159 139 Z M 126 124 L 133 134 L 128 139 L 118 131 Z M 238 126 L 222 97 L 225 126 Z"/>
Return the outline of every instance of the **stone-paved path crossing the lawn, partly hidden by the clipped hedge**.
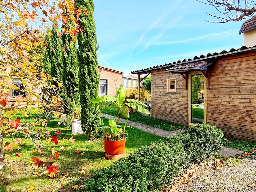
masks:
<path fill-rule="evenodd" d="M 112 115 L 101 113 L 101 116 L 105 117 L 107 119 L 114 118 L 117 121 L 117 117 L 114 117 Z M 125 123 L 125 121 L 126 121 L 125 119 L 120 118 L 120 123 Z M 134 122 L 134 121 L 128 121 L 127 124 L 131 127 L 136 127 L 136 128 L 138 128 L 142 131 L 149 132 L 151 134 L 158 135 L 158 136 L 161 136 L 161 137 L 167 137 L 168 135 L 173 136 L 173 135 L 177 135 L 177 134 L 181 133 L 182 131 L 185 131 L 185 129 L 178 129 L 178 130 L 174 130 L 174 131 L 166 131 L 166 130 L 163 130 L 163 129 L 159 129 L 159 128 L 156 128 L 156 127 L 151 127 L 149 125 L 144 125 L 142 123 L 138 123 L 138 122 Z M 242 153 L 244 153 L 244 152 L 240 151 L 238 149 L 225 147 L 225 146 L 223 146 L 222 149 L 219 152 L 219 154 L 223 155 L 224 157 L 230 157 L 230 156 L 234 156 L 234 155 L 238 155 L 238 154 L 242 154 Z"/>

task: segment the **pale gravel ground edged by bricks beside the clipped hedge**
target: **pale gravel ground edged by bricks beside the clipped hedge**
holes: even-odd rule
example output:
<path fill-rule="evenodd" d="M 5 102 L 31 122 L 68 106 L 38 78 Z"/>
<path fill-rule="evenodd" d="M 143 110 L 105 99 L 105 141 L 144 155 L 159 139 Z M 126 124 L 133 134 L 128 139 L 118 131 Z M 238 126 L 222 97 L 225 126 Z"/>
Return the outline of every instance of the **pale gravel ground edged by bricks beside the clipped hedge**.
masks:
<path fill-rule="evenodd" d="M 200 169 L 177 192 L 256 192 L 256 157 L 233 159 L 230 164 L 220 170 Z"/>

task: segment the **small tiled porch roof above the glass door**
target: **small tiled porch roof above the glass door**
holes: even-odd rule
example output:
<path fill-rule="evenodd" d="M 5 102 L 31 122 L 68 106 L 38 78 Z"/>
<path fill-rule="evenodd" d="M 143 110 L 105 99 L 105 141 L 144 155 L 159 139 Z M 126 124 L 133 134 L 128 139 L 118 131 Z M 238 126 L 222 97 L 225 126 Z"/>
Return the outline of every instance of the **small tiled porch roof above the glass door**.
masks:
<path fill-rule="evenodd" d="M 169 69 L 166 69 L 165 72 L 182 72 L 182 71 L 186 72 L 186 71 L 192 71 L 192 70 L 207 71 L 207 67 L 211 64 L 213 64 L 213 63 L 212 62 L 208 63 L 206 61 L 178 64 Z"/>

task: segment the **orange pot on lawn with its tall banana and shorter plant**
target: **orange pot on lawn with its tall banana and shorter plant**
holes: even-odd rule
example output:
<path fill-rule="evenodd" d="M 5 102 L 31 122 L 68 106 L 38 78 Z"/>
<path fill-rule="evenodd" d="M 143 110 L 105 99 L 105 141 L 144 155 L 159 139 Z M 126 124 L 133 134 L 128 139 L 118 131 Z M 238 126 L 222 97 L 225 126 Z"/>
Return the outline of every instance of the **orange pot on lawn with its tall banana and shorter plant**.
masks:
<path fill-rule="evenodd" d="M 104 149 L 105 149 L 105 156 L 109 158 L 108 155 L 115 154 L 120 155 L 123 154 L 123 144 L 125 145 L 126 141 L 126 127 L 128 119 L 124 126 L 120 125 L 120 114 L 128 118 L 129 112 L 131 107 L 138 112 L 150 114 L 150 112 L 146 109 L 146 105 L 138 100 L 135 99 L 125 99 L 126 97 L 126 89 L 121 85 L 116 92 L 116 97 L 111 95 L 102 95 L 96 97 L 91 100 L 91 103 L 87 106 L 89 108 L 95 107 L 97 105 L 102 104 L 103 108 L 110 107 L 112 105 L 116 106 L 117 110 L 117 123 L 112 119 L 109 121 L 109 126 L 99 127 L 98 130 L 104 132 Z M 106 132 L 105 132 L 106 131 Z M 116 142 L 117 141 L 117 142 Z M 120 144 L 122 141 L 122 145 Z M 115 146 L 114 143 L 119 143 Z M 111 147 L 115 146 L 118 152 L 115 151 L 115 148 Z M 120 147 L 120 148 L 119 148 Z M 106 151 L 107 150 L 107 151 Z M 116 154 L 119 153 L 119 154 Z M 111 157 L 112 158 L 112 157 Z M 115 158 L 115 157 L 113 157 Z"/>

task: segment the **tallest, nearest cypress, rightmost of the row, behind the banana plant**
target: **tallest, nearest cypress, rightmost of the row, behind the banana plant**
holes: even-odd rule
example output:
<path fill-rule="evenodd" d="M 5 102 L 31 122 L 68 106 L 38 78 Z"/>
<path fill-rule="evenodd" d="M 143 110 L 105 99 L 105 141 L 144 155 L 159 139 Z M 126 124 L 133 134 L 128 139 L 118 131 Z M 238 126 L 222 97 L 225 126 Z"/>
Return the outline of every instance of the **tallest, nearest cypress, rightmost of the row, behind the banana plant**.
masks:
<path fill-rule="evenodd" d="M 97 63 L 97 38 L 93 16 L 93 0 L 76 0 L 76 8 L 81 11 L 79 24 L 84 32 L 78 33 L 79 45 L 79 91 L 82 129 L 88 138 L 95 136 L 95 128 L 101 126 L 99 107 L 87 108 L 90 100 L 98 96 L 99 72 Z"/>

